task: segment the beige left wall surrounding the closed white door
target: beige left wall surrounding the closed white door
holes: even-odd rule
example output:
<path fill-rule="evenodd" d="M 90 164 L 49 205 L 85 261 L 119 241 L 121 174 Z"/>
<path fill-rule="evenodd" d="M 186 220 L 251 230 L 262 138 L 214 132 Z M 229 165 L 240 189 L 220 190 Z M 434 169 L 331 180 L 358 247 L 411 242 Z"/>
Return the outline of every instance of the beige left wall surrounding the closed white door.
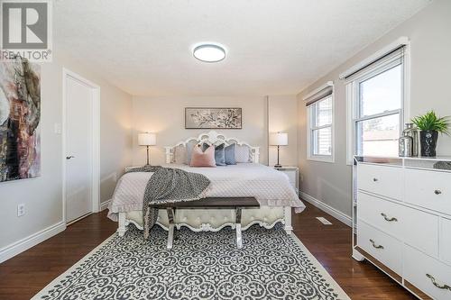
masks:
<path fill-rule="evenodd" d="M 62 122 L 62 68 L 69 68 L 101 88 L 101 201 L 109 199 L 115 178 L 132 161 L 132 97 L 106 83 L 95 70 L 82 66 L 57 47 L 53 62 L 42 64 L 41 177 L 0 183 L 0 261 L 12 253 L 11 247 L 25 247 L 21 240 L 33 234 L 42 236 L 39 234 L 62 221 L 62 136 L 54 132 L 54 124 Z M 19 204 L 26 205 L 22 217 L 17 217 Z M 63 228 L 60 225 L 58 230 Z"/>

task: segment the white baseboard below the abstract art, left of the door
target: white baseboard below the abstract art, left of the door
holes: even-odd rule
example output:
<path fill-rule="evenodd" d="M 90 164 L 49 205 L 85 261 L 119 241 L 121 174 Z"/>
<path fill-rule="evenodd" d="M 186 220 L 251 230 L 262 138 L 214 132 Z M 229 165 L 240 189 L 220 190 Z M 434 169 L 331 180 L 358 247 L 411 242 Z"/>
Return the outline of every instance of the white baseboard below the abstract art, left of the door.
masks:
<path fill-rule="evenodd" d="M 40 242 L 51 238 L 53 235 L 58 234 L 64 231 L 65 229 L 66 223 L 61 221 L 47 228 L 44 228 L 40 232 L 33 233 L 32 235 L 29 235 L 20 241 L 16 241 L 0 249 L 0 262 L 3 262 L 7 259 L 11 259 L 17 254 L 23 252 L 24 250 L 28 250 L 33 246 L 36 246 Z"/>

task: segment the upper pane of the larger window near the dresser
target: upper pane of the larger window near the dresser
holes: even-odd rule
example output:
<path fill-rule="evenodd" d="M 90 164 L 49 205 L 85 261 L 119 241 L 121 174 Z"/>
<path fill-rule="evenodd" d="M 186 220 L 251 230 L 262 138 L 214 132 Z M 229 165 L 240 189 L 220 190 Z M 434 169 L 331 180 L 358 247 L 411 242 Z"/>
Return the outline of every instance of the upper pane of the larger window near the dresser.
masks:
<path fill-rule="evenodd" d="M 360 116 L 400 109 L 401 65 L 360 83 Z"/>

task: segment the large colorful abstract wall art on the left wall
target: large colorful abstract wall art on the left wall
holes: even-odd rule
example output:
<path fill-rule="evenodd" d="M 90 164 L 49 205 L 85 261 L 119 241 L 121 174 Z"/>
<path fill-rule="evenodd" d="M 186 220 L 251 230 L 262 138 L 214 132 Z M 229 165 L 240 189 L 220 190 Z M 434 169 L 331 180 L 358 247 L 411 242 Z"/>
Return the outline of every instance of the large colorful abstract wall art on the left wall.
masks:
<path fill-rule="evenodd" d="M 0 61 L 0 182 L 41 175 L 41 67 Z"/>

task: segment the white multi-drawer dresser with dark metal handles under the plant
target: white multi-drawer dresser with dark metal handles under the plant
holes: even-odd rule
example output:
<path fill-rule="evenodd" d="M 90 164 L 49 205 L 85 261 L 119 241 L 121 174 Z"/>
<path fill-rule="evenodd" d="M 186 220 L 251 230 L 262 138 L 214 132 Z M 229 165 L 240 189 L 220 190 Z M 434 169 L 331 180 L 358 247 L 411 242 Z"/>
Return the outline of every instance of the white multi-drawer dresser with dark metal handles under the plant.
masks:
<path fill-rule="evenodd" d="M 354 158 L 353 257 L 421 299 L 451 299 L 451 158 Z"/>

